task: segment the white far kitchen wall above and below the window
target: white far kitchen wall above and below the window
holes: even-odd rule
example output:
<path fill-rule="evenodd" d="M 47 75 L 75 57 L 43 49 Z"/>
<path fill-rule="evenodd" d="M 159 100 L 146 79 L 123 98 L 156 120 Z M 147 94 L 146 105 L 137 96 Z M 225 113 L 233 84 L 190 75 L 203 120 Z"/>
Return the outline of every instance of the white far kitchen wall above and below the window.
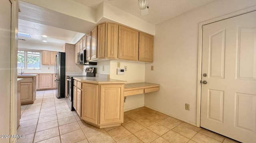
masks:
<path fill-rule="evenodd" d="M 62 51 L 62 47 L 47 45 L 47 44 L 36 44 L 36 43 L 28 43 L 26 41 L 18 40 L 18 48 L 22 49 L 34 49 L 34 50 L 47 50 L 47 51 Z M 41 61 L 42 63 L 42 61 Z M 40 69 L 22 69 L 24 73 L 54 73 L 54 65 L 42 65 Z M 17 69 L 17 72 L 20 73 L 21 69 Z"/>

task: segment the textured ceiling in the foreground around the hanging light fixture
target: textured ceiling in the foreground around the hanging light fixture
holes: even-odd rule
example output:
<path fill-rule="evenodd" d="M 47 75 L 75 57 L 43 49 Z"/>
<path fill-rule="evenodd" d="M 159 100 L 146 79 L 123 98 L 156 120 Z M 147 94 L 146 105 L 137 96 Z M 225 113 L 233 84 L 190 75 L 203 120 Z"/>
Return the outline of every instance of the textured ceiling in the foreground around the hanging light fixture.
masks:
<path fill-rule="evenodd" d="M 74 0 L 97 9 L 101 2 L 107 2 L 152 24 L 159 24 L 184 12 L 198 8 L 214 0 L 148 0 L 148 14 L 140 15 L 138 0 Z"/>

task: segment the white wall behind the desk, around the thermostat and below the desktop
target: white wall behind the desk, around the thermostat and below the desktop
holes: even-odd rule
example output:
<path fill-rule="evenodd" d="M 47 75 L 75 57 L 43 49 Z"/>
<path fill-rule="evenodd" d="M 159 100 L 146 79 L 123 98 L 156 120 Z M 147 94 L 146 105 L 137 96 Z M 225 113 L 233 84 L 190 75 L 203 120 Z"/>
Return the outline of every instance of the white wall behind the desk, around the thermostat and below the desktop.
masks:
<path fill-rule="evenodd" d="M 127 71 L 124 72 L 124 75 L 116 74 L 117 62 L 120 62 L 120 68 L 127 66 Z M 125 80 L 127 83 L 145 82 L 145 64 L 126 61 L 110 61 L 110 78 Z M 144 106 L 144 94 L 128 96 L 124 103 L 124 111 L 142 106 Z"/>

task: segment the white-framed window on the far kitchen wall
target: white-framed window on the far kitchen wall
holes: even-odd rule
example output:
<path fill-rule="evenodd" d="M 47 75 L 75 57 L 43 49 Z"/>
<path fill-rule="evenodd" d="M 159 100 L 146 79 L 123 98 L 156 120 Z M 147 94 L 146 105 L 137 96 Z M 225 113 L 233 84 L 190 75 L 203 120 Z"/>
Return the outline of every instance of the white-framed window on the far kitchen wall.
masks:
<path fill-rule="evenodd" d="M 40 69 L 40 51 L 18 50 L 18 69 Z"/>

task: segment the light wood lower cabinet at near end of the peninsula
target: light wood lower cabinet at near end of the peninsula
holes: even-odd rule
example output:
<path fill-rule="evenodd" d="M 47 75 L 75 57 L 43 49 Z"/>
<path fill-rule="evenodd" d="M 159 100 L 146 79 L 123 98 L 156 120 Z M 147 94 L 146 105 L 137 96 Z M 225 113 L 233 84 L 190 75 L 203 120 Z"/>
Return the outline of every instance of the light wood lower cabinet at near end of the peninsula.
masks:
<path fill-rule="evenodd" d="M 81 118 L 99 128 L 124 121 L 124 84 L 82 84 Z"/>

